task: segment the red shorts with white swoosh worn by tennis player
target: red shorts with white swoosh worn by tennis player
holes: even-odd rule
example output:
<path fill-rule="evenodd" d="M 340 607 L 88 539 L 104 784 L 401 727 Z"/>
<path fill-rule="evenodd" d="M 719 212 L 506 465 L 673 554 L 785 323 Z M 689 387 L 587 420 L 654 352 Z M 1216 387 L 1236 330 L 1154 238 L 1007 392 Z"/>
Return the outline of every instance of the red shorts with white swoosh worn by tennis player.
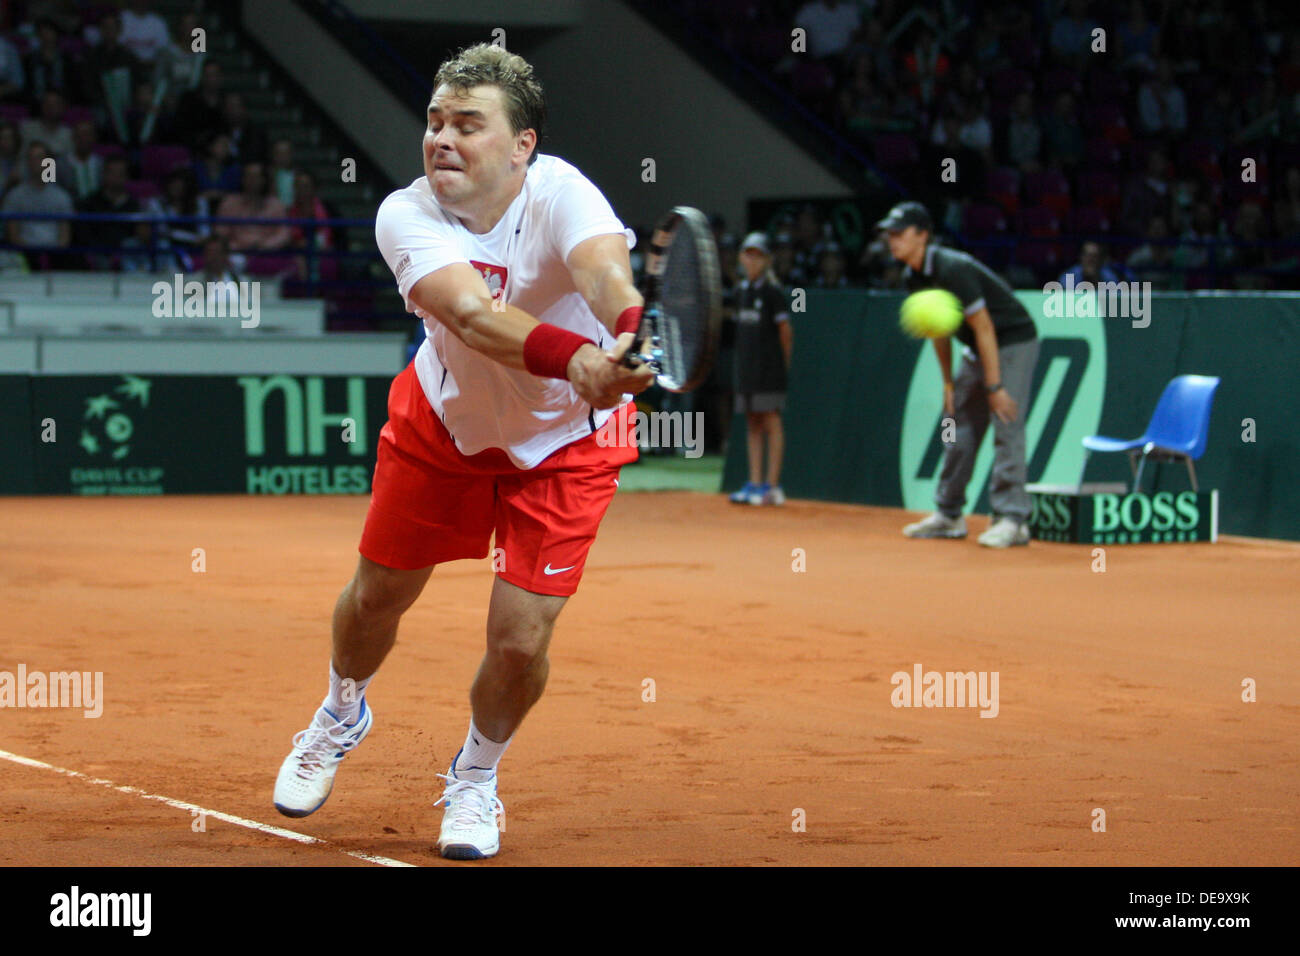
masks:
<path fill-rule="evenodd" d="M 620 425 L 628 402 L 601 429 Z M 488 557 L 494 570 L 538 594 L 577 591 L 595 529 L 618 489 L 619 470 L 637 449 L 607 446 L 593 433 L 516 468 L 502 449 L 463 455 L 429 405 L 415 367 L 393 381 L 389 421 L 380 432 L 370 509 L 358 550 L 377 564 L 413 570 Z"/>

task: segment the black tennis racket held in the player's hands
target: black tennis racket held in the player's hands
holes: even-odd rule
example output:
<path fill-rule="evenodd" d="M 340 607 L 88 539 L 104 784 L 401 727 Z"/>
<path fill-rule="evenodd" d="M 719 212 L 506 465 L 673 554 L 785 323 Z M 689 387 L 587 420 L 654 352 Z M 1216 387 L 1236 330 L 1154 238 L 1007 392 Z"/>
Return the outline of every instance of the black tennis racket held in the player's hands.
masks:
<path fill-rule="evenodd" d="M 647 364 L 668 392 L 690 392 L 714 365 L 723 311 L 718 248 L 699 209 L 679 206 L 655 226 L 642 294 L 641 325 L 623 364 Z"/>

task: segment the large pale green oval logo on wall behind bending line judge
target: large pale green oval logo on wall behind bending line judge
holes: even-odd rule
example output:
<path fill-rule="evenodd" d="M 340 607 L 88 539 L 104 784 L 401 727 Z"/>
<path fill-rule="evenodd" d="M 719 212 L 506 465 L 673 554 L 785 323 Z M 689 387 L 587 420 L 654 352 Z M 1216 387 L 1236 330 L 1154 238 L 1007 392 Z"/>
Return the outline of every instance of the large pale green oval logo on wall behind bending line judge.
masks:
<path fill-rule="evenodd" d="M 1097 316 L 1046 316 L 1043 293 L 1015 293 L 1034 316 L 1041 345 L 1034 373 L 1035 389 L 1026 419 L 1028 480 L 1044 484 L 1079 481 L 1083 438 L 1097 433 L 1106 393 L 1106 336 Z M 961 343 L 953 339 L 953 372 L 961 362 Z M 944 464 L 942 377 L 935 350 L 920 349 L 913 368 L 898 438 L 898 485 L 909 511 L 935 507 L 935 488 Z M 966 488 L 970 511 L 985 494 L 993 468 L 993 425 L 989 424 L 975 471 Z"/>

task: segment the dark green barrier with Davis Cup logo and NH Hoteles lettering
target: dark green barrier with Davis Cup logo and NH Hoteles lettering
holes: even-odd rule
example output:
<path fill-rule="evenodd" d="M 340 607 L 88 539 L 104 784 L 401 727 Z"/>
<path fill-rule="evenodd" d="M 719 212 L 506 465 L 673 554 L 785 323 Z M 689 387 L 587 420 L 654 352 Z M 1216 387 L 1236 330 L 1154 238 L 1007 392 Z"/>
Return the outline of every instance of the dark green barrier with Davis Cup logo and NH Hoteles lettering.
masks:
<path fill-rule="evenodd" d="M 5 376 L 6 494 L 361 494 L 390 377 Z"/>

